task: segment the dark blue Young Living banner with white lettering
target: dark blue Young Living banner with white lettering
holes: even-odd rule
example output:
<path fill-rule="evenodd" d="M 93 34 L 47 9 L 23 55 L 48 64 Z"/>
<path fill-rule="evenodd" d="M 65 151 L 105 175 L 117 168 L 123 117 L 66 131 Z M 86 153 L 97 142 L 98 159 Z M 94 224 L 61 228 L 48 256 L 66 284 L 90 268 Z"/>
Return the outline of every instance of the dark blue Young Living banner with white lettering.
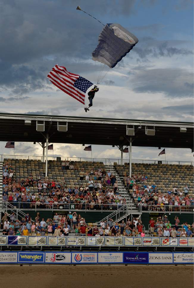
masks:
<path fill-rule="evenodd" d="M 123 263 L 145 264 L 148 263 L 148 261 L 149 255 L 147 252 L 123 252 Z"/>

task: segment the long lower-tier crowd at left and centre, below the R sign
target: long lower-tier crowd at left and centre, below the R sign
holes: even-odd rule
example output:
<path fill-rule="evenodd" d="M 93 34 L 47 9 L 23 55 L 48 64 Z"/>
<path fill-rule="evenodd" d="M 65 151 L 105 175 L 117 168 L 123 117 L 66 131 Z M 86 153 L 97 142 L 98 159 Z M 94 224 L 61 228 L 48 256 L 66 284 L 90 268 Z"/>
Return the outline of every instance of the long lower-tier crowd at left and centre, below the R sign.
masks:
<path fill-rule="evenodd" d="M 13 212 L 10 216 L 6 213 L 2 218 L 2 228 L 4 235 L 53 235 L 53 236 L 68 236 L 69 233 L 82 234 L 86 236 L 141 236 L 144 237 L 144 229 L 141 220 L 136 218 L 133 221 L 129 219 L 125 223 L 115 222 L 110 218 L 107 221 L 101 221 L 100 225 L 93 225 L 92 223 L 85 223 L 85 219 L 76 212 L 69 212 L 68 215 L 61 215 L 55 213 L 53 219 L 40 217 L 37 212 L 35 221 L 32 221 L 29 213 L 21 220 L 16 219 Z"/>

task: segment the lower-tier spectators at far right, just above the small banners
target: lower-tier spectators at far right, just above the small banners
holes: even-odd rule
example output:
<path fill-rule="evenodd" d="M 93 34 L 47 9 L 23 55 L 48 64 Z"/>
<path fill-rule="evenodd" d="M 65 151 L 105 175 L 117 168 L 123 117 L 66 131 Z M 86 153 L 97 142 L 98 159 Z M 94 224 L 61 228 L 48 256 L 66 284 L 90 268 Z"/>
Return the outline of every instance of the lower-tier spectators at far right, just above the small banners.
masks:
<path fill-rule="evenodd" d="M 172 225 L 168 220 L 167 215 L 157 217 L 155 221 L 153 218 L 149 221 L 150 234 L 158 237 L 193 237 L 194 223 L 192 225 L 187 222 L 180 225 L 179 217 L 175 217 L 175 223 Z"/>

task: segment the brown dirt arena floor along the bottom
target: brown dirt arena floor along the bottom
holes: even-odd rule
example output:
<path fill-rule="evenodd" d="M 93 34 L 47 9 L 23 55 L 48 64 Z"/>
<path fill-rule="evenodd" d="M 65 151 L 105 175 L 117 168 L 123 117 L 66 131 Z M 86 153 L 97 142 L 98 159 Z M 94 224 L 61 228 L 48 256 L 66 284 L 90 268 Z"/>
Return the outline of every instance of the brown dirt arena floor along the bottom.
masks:
<path fill-rule="evenodd" d="M 193 288 L 193 266 L 0 266 L 3 288 Z"/>

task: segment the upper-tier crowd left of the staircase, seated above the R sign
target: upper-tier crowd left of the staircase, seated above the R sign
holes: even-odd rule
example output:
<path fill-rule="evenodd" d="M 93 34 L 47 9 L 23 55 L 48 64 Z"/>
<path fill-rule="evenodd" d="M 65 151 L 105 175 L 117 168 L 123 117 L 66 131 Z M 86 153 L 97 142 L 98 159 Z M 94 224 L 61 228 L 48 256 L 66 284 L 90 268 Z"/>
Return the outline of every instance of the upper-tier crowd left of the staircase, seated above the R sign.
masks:
<path fill-rule="evenodd" d="M 68 165 L 67 165 L 68 164 Z M 75 203 L 76 209 L 89 210 L 116 210 L 122 204 L 126 204 L 126 199 L 119 194 L 118 181 L 115 175 L 104 168 L 98 170 L 85 171 L 82 168 L 79 172 L 80 180 L 85 178 L 86 185 L 78 187 L 68 187 L 65 178 L 61 181 L 41 180 L 40 175 L 33 179 L 32 174 L 26 179 L 13 178 L 9 163 L 5 163 L 3 169 L 3 200 L 12 203 L 17 208 L 29 209 L 51 209 L 63 206 L 69 208 L 69 204 Z M 62 162 L 62 170 L 74 169 L 68 161 Z M 31 187 L 37 187 L 35 194 Z M 101 206 L 101 204 L 103 204 Z"/>

